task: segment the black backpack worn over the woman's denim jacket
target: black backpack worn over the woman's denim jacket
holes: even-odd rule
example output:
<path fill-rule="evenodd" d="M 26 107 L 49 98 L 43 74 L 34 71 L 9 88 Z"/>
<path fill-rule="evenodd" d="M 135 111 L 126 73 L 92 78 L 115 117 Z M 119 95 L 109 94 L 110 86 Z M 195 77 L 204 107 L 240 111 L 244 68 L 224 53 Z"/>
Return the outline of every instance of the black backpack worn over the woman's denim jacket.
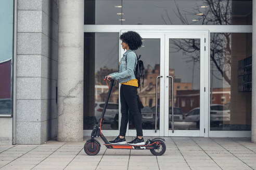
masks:
<path fill-rule="evenodd" d="M 136 54 L 136 53 L 135 53 Z M 140 88 L 140 79 L 143 79 L 142 81 L 142 87 L 144 87 L 144 76 L 145 76 L 145 70 L 144 70 L 144 64 L 142 60 L 139 60 L 142 55 L 139 54 L 139 56 L 136 54 L 137 57 L 137 65 L 135 68 L 135 78 L 138 80 L 138 88 Z M 125 56 L 125 62 L 127 63 L 127 55 Z"/>

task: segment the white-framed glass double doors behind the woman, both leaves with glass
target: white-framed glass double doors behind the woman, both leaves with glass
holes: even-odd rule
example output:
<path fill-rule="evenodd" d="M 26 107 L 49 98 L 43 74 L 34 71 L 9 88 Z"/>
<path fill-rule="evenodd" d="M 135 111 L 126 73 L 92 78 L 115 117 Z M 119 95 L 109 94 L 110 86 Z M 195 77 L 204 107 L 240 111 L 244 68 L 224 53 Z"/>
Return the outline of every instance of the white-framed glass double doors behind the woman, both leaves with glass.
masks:
<path fill-rule="evenodd" d="M 136 32 L 143 38 L 136 53 L 145 67 L 138 88 L 144 135 L 208 136 L 208 31 Z M 131 115 L 126 135 L 136 136 Z"/>

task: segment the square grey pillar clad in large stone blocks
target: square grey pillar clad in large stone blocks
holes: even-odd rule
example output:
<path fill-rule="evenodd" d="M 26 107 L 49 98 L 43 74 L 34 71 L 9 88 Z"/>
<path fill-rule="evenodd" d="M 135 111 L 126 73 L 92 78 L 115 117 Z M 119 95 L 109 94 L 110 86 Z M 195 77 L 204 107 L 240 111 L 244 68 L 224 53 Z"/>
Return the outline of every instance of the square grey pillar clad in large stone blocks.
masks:
<path fill-rule="evenodd" d="M 57 0 L 18 0 L 17 23 L 16 141 L 43 144 L 57 136 Z"/>

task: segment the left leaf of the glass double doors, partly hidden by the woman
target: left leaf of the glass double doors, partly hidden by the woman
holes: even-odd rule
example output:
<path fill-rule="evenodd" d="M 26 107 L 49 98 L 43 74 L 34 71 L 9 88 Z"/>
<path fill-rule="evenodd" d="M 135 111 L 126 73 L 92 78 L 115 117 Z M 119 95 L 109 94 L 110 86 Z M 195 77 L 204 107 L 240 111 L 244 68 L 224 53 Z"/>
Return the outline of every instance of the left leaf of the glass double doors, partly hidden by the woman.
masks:
<path fill-rule="evenodd" d="M 143 38 L 143 45 L 140 49 L 136 50 L 136 53 L 137 55 L 142 55 L 141 60 L 143 60 L 145 67 L 144 87 L 138 88 L 137 90 L 143 105 L 143 108 L 140 108 L 143 135 L 163 136 L 164 34 L 137 32 Z M 121 50 L 121 56 L 123 56 L 124 52 L 124 50 Z M 121 120 L 119 122 L 121 122 Z M 133 117 L 131 115 L 126 135 L 136 136 Z"/>

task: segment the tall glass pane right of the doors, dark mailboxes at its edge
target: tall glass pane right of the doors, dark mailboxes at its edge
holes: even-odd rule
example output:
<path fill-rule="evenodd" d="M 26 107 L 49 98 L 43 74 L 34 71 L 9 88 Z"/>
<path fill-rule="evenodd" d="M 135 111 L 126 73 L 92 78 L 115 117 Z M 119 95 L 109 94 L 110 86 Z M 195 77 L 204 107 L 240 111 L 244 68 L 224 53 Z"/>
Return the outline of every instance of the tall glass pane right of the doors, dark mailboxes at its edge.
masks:
<path fill-rule="evenodd" d="M 251 130 L 251 33 L 211 33 L 212 131 Z"/>

